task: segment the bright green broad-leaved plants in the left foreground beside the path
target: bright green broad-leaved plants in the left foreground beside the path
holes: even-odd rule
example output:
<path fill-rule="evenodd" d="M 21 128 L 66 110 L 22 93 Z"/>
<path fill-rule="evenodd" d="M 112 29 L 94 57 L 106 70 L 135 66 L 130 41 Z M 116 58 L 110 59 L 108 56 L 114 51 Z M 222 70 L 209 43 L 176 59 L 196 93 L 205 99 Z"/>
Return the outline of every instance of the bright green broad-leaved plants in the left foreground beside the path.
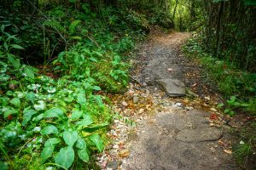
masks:
<path fill-rule="evenodd" d="M 86 79 L 54 80 L 38 75 L 31 66 L 21 65 L 12 50 L 22 48 L 4 28 L 1 27 L 0 45 L 0 116 L 4 120 L 0 129 L 1 161 L 9 160 L 15 153 L 19 153 L 15 159 L 40 153 L 40 158 L 36 157 L 43 163 L 54 161 L 65 168 L 71 167 L 77 156 L 84 162 L 90 161 L 95 149 L 103 150 L 104 141 L 99 134 L 111 121 L 102 97 L 94 95 L 101 88 L 95 85 L 88 70 Z M 27 166 L 22 162 L 9 165 Z"/>

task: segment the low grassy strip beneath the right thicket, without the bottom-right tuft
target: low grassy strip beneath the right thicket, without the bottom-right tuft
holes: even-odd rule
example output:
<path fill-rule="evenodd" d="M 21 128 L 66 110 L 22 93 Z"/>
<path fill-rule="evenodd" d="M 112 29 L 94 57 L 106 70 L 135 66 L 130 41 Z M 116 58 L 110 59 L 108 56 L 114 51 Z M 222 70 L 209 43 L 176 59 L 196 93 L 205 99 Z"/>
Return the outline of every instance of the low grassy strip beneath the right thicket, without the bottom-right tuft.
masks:
<path fill-rule="evenodd" d="M 234 65 L 227 61 L 213 58 L 206 54 L 201 45 L 190 39 L 183 51 L 199 59 L 200 63 L 207 68 L 210 76 L 218 84 L 219 91 L 224 94 L 227 103 L 225 113 L 234 116 L 237 108 L 243 111 L 249 111 L 252 114 L 256 112 L 254 105 L 256 93 L 255 74 L 247 71 L 240 71 Z M 224 107 L 224 105 L 220 105 Z"/>

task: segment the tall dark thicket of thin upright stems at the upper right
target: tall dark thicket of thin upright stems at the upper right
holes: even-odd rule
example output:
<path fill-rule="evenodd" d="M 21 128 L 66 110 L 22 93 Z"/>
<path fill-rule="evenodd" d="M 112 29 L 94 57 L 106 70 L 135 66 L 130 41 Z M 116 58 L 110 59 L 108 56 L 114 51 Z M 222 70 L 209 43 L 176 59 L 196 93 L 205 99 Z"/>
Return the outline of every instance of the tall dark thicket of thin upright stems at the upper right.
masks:
<path fill-rule="evenodd" d="M 197 42 L 201 48 L 214 58 L 255 72 L 256 60 L 253 56 L 256 54 L 256 42 L 253 30 L 256 29 L 256 22 L 253 2 L 201 1 L 196 2 L 194 7 L 195 22 L 192 26 L 198 34 Z"/>

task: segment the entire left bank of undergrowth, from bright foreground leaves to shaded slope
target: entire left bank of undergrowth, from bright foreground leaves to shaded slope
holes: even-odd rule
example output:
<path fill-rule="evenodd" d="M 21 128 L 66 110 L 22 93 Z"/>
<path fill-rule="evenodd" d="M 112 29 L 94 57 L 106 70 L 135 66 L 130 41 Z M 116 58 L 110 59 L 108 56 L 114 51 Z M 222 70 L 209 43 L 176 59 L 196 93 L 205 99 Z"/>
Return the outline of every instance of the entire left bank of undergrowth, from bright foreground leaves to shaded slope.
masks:
<path fill-rule="evenodd" d="M 94 13 L 87 3 L 51 6 L 38 20 L 1 14 L 0 168 L 99 168 L 94 154 L 108 143 L 113 117 L 101 94 L 125 90 L 125 60 L 148 21 L 113 7 Z M 25 64 L 42 61 L 43 71 Z"/>

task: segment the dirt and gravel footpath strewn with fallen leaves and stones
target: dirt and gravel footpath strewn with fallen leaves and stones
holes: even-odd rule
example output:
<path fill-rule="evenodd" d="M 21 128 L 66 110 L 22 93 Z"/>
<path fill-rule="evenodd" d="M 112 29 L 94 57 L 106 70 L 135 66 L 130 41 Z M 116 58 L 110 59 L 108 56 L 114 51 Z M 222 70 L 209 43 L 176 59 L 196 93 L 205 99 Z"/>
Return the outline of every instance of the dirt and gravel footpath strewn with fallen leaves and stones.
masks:
<path fill-rule="evenodd" d="M 98 158 L 102 169 L 237 169 L 218 94 L 180 52 L 188 37 L 155 30 L 139 48 L 130 88 L 111 96 L 122 116 Z"/>

